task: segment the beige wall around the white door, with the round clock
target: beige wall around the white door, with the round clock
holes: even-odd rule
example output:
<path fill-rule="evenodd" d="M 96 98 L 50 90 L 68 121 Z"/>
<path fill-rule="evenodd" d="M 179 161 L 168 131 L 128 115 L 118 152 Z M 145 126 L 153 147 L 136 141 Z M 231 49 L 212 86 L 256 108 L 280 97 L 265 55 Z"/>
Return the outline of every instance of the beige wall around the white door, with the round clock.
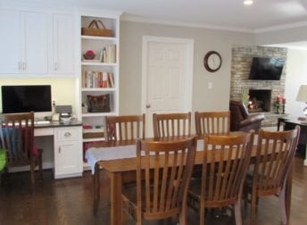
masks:
<path fill-rule="evenodd" d="M 228 110 L 231 48 L 254 45 L 253 34 L 120 21 L 120 114 L 142 112 L 143 36 L 194 39 L 193 111 Z M 203 68 L 203 55 L 210 50 L 222 57 L 220 71 L 211 73 Z"/>

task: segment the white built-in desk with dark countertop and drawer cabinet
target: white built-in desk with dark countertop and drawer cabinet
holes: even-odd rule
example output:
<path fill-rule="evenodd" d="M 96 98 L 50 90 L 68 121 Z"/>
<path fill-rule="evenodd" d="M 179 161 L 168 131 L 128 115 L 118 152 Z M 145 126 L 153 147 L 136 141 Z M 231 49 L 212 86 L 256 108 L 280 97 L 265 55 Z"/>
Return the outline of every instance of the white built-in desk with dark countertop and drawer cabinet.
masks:
<path fill-rule="evenodd" d="M 54 137 L 54 179 L 82 176 L 82 123 L 80 121 L 71 121 L 69 124 L 59 121 L 35 124 L 34 136 Z"/>

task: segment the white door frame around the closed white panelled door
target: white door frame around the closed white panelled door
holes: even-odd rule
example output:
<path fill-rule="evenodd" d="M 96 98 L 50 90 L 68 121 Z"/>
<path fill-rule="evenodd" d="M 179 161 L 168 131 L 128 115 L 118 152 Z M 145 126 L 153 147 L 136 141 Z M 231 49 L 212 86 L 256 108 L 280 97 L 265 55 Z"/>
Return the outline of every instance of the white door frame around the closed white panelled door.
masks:
<path fill-rule="evenodd" d="M 192 91 L 193 91 L 193 61 L 194 61 L 194 39 L 176 38 L 176 37 L 155 37 L 143 36 L 142 43 L 142 113 L 146 112 L 147 100 L 147 54 L 148 44 L 150 42 L 161 42 L 170 44 L 184 44 L 186 45 L 187 53 L 187 68 L 186 68 L 186 99 L 185 111 L 192 112 Z"/>

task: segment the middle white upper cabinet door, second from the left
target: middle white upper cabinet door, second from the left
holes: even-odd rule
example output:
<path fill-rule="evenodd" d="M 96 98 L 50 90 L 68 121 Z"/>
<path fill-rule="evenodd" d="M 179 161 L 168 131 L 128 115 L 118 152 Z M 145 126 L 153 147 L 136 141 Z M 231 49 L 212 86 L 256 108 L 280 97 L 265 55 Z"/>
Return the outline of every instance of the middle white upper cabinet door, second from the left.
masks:
<path fill-rule="evenodd" d="M 21 12 L 21 34 L 23 72 L 46 74 L 48 72 L 46 13 Z"/>

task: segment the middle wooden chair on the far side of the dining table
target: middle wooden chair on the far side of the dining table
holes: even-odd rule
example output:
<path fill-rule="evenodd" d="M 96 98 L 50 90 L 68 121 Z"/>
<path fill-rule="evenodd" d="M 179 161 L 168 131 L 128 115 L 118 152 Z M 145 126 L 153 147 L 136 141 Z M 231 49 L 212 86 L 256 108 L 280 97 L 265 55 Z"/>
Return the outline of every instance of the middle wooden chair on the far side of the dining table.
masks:
<path fill-rule="evenodd" d="M 191 135 L 191 112 L 153 114 L 154 137 Z"/>

